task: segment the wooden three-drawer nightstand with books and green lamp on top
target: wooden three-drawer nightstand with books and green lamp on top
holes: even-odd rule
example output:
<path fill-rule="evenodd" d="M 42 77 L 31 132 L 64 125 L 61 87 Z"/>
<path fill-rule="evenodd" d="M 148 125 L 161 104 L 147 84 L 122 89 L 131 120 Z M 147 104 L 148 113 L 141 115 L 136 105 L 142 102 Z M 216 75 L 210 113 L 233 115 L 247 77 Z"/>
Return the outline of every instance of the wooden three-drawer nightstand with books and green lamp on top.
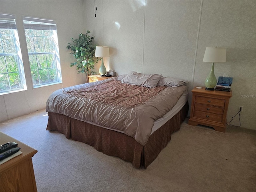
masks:
<path fill-rule="evenodd" d="M 232 91 L 209 91 L 205 88 L 192 90 L 193 98 L 189 125 L 205 125 L 225 132 L 229 98 Z"/>

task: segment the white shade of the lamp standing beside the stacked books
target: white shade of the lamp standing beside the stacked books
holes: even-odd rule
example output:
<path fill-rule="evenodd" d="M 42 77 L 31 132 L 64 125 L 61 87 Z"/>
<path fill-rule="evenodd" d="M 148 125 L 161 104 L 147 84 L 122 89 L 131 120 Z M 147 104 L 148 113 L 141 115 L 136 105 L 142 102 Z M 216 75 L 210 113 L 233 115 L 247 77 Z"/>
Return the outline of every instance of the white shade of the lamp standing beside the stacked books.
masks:
<path fill-rule="evenodd" d="M 226 62 L 226 48 L 206 47 L 203 62 L 224 63 Z"/>

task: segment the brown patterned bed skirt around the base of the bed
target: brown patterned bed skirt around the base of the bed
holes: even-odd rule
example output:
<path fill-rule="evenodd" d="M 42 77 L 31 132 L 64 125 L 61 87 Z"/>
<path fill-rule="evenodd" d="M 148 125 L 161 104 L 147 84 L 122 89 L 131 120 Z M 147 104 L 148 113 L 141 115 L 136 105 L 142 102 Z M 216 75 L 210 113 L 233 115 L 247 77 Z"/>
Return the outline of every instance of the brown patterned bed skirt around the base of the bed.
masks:
<path fill-rule="evenodd" d="M 48 112 L 46 130 L 58 131 L 72 140 L 84 142 L 96 150 L 132 162 L 136 168 L 147 168 L 171 140 L 171 134 L 180 129 L 188 114 L 188 102 L 162 127 L 156 130 L 143 146 L 130 136 L 98 127 L 62 114 Z"/>

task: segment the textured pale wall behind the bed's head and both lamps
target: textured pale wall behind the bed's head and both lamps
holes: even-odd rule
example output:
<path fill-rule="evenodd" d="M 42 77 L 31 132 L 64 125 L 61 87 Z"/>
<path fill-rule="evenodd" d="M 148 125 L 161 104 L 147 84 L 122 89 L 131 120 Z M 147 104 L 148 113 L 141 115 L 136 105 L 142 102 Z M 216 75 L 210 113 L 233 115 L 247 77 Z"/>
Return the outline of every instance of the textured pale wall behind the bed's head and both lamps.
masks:
<path fill-rule="evenodd" d="M 180 77 L 204 86 L 210 63 L 206 47 L 227 48 L 227 62 L 215 64 L 215 75 L 234 78 L 228 117 L 244 106 L 241 126 L 256 130 L 256 1 L 85 1 L 85 28 L 98 45 L 110 47 L 107 70 L 132 70 Z M 120 24 L 120 28 L 116 23 Z M 191 103 L 191 92 L 189 102 Z M 248 97 L 247 97 L 248 96 Z M 239 125 L 238 118 L 234 125 Z"/>

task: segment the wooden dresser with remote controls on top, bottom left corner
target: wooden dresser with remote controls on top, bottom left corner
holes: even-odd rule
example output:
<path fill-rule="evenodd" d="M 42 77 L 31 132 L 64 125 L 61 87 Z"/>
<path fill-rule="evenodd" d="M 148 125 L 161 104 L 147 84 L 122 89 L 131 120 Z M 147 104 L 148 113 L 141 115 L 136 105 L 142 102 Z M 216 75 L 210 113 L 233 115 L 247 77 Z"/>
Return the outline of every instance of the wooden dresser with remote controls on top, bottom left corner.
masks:
<path fill-rule="evenodd" d="M 1 164 L 1 192 L 36 192 L 36 180 L 32 157 L 37 150 L 0 132 L 0 143 L 16 142 L 22 154 Z"/>

